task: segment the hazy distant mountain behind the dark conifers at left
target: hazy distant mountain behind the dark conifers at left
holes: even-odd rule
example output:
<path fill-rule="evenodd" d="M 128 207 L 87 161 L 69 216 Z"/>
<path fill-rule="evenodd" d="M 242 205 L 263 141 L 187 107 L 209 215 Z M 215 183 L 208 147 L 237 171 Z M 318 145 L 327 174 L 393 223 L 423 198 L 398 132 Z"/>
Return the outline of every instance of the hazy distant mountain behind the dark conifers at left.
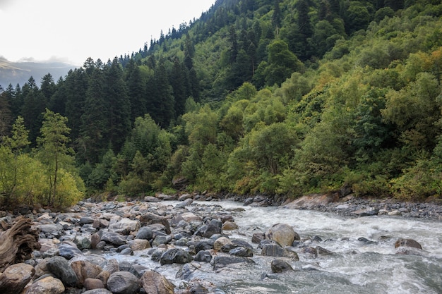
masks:
<path fill-rule="evenodd" d="M 50 73 L 54 81 L 67 75 L 68 71 L 78 66 L 64 62 L 11 62 L 0 56 L 0 85 L 4 88 L 12 84 L 22 86 L 32 76 L 40 85 L 40 81 Z"/>

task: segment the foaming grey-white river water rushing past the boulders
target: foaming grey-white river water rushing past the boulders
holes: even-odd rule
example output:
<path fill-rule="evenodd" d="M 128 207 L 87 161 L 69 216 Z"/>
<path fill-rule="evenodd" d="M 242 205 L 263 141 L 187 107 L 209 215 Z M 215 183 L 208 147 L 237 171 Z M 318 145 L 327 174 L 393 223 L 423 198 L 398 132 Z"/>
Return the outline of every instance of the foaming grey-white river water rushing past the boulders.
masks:
<path fill-rule="evenodd" d="M 219 293 L 442 293 L 442 222 L 403 219 L 398 216 L 347 218 L 335 214 L 277 207 L 243 207 L 235 202 L 221 204 L 232 209 L 239 230 L 230 232 L 232 239 L 251 243 L 253 233 L 265 232 L 275 223 L 288 223 L 299 233 L 304 245 L 321 246 L 333 255 L 298 252 L 299 262 L 289 261 L 294 271 L 273 274 L 270 263 L 275 257 L 261 257 L 253 244 L 254 264 L 214 271 L 202 264 L 193 277 L 215 283 Z M 188 207 L 191 210 L 191 207 Z M 308 241 L 319 236 L 323 241 Z M 363 237 L 373 242 L 362 242 Z M 419 255 L 396 254 L 395 241 L 411 238 L 422 245 Z M 309 243 L 311 242 L 311 243 Z M 176 285 L 179 266 L 160 267 L 143 254 L 131 262 L 150 263 Z"/>

